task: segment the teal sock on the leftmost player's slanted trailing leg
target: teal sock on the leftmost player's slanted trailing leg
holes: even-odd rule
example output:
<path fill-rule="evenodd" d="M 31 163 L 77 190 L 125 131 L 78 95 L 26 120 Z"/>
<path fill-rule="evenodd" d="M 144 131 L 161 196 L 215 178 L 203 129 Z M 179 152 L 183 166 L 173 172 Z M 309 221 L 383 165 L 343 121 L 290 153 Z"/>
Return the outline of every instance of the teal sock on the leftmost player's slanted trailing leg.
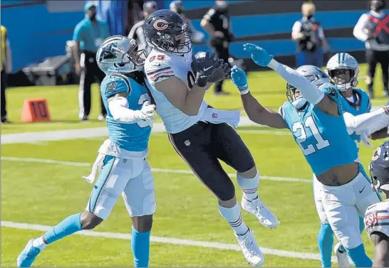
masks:
<path fill-rule="evenodd" d="M 47 242 L 47 244 L 51 244 L 52 242 L 56 242 L 63 237 L 81 230 L 83 230 L 81 227 L 81 213 L 77 213 L 69 216 L 65 220 L 61 221 L 61 223 L 54 226 L 51 230 L 47 231 L 43 235 L 43 239 Z"/>

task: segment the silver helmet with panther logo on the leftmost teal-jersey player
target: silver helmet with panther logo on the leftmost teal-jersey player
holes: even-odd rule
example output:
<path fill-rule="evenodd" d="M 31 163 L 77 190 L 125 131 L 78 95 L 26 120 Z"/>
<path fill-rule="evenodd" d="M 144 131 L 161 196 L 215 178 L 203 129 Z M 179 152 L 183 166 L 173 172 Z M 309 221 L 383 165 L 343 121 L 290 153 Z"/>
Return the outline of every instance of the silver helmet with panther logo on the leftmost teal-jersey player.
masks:
<path fill-rule="evenodd" d="M 143 70 L 145 60 L 145 50 L 138 50 L 138 42 L 125 36 L 108 37 L 96 53 L 98 67 L 106 74 Z"/>

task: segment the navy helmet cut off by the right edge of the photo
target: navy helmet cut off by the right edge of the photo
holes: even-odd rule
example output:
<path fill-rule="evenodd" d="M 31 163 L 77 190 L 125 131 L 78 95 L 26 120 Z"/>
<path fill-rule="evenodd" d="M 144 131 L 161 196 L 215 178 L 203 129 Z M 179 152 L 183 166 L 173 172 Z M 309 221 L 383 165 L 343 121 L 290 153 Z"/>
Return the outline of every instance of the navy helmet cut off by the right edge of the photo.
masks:
<path fill-rule="evenodd" d="M 389 191 L 389 141 L 385 141 L 375 149 L 369 171 L 373 189 Z"/>

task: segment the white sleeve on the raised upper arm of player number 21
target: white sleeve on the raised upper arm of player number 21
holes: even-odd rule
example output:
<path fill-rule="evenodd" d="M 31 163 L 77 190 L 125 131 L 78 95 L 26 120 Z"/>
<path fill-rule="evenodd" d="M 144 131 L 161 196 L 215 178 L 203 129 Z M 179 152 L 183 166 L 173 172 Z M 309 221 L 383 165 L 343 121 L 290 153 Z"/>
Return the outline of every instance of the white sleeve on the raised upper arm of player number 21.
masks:
<path fill-rule="evenodd" d="M 318 90 L 311 82 L 309 82 L 306 77 L 299 74 L 296 70 L 289 68 L 286 65 L 283 65 L 276 60 L 271 60 L 269 67 L 275 70 L 281 77 L 289 82 L 289 84 L 298 88 L 301 92 L 301 95 L 311 104 L 316 105 L 318 102 L 323 100 L 324 92 Z"/>

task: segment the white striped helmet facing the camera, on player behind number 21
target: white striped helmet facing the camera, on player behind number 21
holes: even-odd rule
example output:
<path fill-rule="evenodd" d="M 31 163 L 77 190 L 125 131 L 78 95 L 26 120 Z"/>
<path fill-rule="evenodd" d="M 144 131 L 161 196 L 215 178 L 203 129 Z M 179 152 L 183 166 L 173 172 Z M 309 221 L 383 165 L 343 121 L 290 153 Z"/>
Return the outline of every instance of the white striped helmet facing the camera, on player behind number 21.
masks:
<path fill-rule="evenodd" d="M 326 73 L 341 91 L 358 85 L 358 62 L 348 53 L 341 52 L 333 55 L 328 60 Z"/>

